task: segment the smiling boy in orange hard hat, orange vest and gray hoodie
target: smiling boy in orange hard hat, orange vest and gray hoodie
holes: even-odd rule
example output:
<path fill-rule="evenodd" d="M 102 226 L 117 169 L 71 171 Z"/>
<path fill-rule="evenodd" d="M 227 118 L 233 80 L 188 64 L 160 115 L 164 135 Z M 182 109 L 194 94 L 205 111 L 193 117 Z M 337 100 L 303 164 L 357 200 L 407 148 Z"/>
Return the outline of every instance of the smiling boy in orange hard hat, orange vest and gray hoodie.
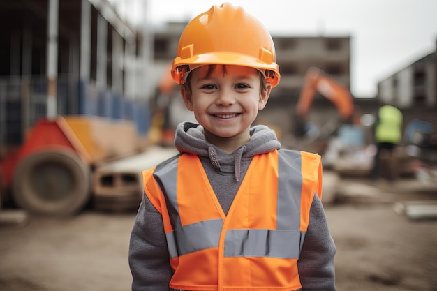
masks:
<path fill-rule="evenodd" d="M 182 33 L 171 73 L 199 124 L 179 124 L 180 154 L 142 173 L 132 290 L 335 290 L 320 156 L 251 127 L 280 79 L 265 27 L 212 6 Z"/>

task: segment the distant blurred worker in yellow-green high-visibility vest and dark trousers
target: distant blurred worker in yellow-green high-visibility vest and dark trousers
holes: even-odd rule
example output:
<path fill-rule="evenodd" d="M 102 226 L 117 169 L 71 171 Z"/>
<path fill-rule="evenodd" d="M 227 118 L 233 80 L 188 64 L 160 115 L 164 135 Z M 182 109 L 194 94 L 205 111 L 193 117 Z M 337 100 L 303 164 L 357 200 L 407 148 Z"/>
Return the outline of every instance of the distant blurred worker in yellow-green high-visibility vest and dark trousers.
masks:
<path fill-rule="evenodd" d="M 376 154 L 373 161 L 371 179 L 377 180 L 381 173 L 381 158 L 387 153 L 387 178 L 394 180 L 397 177 L 394 163 L 394 149 L 402 140 L 403 115 L 401 110 L 392 105 L 383 105 L 379 108 L 374 127 Z"/>

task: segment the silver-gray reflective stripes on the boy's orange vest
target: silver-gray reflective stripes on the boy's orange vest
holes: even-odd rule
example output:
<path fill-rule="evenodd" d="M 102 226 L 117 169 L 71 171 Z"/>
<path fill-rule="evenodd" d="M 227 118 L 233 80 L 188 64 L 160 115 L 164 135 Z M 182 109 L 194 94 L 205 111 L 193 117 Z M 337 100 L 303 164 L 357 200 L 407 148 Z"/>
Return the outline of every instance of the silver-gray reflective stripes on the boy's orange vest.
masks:
<path fill-rule="evenodd" d="M 278 213 L 276 230 L 228 230 L 225 256 L 298 258 L 304 233 L 300 232 L 302 156 L 299 151 L 278 151 Z M 221 219 L 182 227 L 177 207 L 177 161 L 159 165 L 154 178 L 161 187 L 173 231 L 166 234 L 170 258 L 218 246 Z"/>

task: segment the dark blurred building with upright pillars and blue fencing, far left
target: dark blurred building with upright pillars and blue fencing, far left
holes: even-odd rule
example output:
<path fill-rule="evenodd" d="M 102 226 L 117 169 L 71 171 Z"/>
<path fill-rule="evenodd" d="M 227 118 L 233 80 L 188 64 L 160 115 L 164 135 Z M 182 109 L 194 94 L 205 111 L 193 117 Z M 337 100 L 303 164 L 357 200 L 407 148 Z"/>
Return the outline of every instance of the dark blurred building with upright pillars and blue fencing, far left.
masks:
<path fill-rule="evenodd" d="M 50 114 L 129 119 L 146 133 L 142 35 L 108 1 L 0 1 L 0 27 L 0 149 Z"/>

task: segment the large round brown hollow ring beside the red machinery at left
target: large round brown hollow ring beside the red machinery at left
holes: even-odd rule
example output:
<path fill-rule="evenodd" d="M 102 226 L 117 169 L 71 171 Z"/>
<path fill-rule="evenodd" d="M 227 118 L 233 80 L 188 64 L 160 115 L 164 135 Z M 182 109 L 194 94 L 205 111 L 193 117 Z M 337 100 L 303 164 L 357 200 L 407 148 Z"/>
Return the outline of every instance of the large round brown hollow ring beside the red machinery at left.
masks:
<path fill-rule="evenodd" d="M 12 190 L 30 213 L 75 214 L 89 201 L 89 167 L 70 149 L 37 151 L 17 165 Z"/>

